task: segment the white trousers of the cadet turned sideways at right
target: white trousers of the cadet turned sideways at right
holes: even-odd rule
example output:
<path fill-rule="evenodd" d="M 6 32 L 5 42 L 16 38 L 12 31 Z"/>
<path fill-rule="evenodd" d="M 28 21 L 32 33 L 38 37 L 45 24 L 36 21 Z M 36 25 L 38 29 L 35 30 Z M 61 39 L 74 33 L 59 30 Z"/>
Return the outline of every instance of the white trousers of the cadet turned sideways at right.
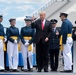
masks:
<path fill-rule="evenodd" d="M 63 44 L 64 70 L 72 70 L 72 45 L 73 40 L 71 37 L 68 37 L 66 44 Z"/>

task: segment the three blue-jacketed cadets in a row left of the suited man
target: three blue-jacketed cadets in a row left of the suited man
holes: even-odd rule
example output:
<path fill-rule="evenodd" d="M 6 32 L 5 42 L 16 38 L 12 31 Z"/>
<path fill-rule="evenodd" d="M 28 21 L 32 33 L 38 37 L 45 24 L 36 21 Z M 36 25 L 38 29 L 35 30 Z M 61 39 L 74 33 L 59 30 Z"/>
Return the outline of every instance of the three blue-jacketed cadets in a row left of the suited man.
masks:
<path fill-rule="evenodd" d="M 15 27 L 16 19 L 12 18 L 9 20 L 10 27 L 6 30 L 6 35 L 4 33 L 4 27 L 1 24 L 3 16 L 0 15 L 0 72 L 5 72 L 4 68 L 4 50 L 3 43 L 7 41 L 7 54 L 9 62 L 9 71 L 18 72 L 18 44 L 21 39 L 21 52 L 23 56 L 24 68 L 23 71 L 28 71 L 27 58 L 29 60 L 29 71 L 33 71 L 33 37 L 35 30 L 31 28 L 31 20 L 27 17 L 24 19 L 26 26 L 21 28 L 19 34 L 19 29 Z M 7 37 L 7 38 L 6 38 Z"/>

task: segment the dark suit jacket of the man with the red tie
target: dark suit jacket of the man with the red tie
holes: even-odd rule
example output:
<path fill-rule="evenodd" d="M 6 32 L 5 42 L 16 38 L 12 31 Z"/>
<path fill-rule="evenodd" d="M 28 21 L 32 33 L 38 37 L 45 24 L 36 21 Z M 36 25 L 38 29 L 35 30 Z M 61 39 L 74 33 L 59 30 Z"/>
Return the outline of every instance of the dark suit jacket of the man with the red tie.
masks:
<path fill-rule="evenodd" d="M 46 37 L 49 38 L 50 32 L 51 32 L 51 25 L 48 20 L 45 20 L 44 30 L 42 30 L 41 20 L 38 19 L 35 22 L 31 24 L 32 28 L 36 28 L 36 34 L 34 37 L 34 43 L 38 43 L 40 39 L 42 39 L 43 44 L 48 44 L 48 42 L 45 42 Z"/>

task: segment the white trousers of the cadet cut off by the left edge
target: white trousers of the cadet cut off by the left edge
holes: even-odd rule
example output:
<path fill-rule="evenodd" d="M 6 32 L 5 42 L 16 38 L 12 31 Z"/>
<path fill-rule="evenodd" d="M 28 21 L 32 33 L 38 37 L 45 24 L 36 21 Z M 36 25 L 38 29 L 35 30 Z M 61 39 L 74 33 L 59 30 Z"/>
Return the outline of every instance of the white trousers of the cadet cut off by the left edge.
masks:
<path fill-rule="evenodd" d="M 3 40 L 0 39 L 0 70 L 4 69 Z"/>

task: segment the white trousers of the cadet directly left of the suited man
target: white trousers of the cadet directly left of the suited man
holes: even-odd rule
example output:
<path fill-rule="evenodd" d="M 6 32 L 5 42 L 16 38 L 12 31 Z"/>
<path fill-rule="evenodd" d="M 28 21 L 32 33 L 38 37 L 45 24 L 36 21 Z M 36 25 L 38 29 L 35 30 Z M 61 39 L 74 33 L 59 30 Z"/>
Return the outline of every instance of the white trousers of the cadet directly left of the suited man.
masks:
<path fill-rule="evenodd" d="M 28 42 L 28 40 L 25 40 Z M 33 44 L 32 44 L 33 48 Z M 24 69 L 27 69 L 27 57 L 29 61 L 29 66 L 30 68 L 33 68 L 33 49 L 31 51 L 28 51 L 28 46 L 25 46 L 23 43 L 21 43 L 21 51 L 22 51 L 22 57 L 23 57 L 23 64 L 24 64 Z"/>

